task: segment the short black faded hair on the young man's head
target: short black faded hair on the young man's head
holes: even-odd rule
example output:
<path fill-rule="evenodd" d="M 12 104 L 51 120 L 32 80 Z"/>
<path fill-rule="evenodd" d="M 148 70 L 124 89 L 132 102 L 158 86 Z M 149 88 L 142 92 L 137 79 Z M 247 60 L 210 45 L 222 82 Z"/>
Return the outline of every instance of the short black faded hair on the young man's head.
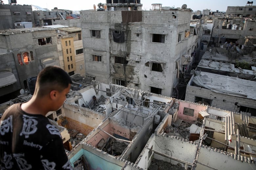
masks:
<path fill-rule="evenodd" d="M 43 95 L 57 90 L 62 92 L 66 89 L 72 80 L 67 72 L 58 66 L 45 67 L 37 76 L 36 88 L 38 88 L 38 94 Z"/>

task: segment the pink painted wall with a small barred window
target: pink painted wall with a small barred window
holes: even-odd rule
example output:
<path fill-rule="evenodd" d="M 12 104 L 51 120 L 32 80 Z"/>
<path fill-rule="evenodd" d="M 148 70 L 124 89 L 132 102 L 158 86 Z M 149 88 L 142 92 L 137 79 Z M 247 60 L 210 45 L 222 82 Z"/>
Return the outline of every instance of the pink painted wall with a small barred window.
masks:
<path fill-rule="evenodd" d="M 194 109 L 194 116 L 188 116 L 188 115 L 183 114 L 184 107 L 189 108 L 189 109 Z M 188 103 L 185 101 L 184 102 L 179 101 L 178 118 L 180 118 L 182 120 L 186 120 L 186 121 L 197 120 L 199 111 L 202 111 L 205 109 L 206 109 L 206 106 L 203 106 L 203 105 Z"/>

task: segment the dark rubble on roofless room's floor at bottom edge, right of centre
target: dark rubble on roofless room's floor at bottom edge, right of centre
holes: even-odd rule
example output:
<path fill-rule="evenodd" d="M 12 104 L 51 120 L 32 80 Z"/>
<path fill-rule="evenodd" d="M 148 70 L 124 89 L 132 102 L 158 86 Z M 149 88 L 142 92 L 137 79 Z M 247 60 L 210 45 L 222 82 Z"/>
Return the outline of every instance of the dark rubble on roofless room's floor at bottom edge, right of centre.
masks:
<path fill-rule="evenodd" d="M 170 162 L 165 162 L 162 160 L 153 159 L 151 161 L 150 166 L 148 167 L 148 170 L 184 170 L 184 165 L 182 167 L 181 163 L 178 163 L 177 165 L 173 165 Z"/>

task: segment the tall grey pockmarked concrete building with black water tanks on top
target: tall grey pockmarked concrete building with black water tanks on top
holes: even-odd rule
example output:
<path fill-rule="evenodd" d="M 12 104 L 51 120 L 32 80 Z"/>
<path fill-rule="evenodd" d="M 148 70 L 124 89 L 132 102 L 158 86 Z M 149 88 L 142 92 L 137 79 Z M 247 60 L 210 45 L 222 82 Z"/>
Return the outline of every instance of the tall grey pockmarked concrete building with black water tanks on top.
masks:
<path fill-rule="evenodd" d="M 107 11 L 81 11 L 86 75 L 177 97 L 181 74 L 198 48 L 198 35 L 190 32 L 191 9 L 141 6 L 107 3 Z"/>

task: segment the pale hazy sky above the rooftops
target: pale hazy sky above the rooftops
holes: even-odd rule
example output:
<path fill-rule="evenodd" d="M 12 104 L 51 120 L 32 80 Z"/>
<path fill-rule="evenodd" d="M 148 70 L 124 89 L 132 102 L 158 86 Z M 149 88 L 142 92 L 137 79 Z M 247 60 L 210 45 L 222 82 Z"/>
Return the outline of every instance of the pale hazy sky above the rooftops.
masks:
<path fill-rule="evenodd" d="M 3 0 L 5 4 L 8 4 L 8 0 Z M 23 5 L 36 5 L 42 8 L 48 8 L 49 10 L 57 7 L 58 9 L 68 9 L 68 10 L 88 10 L 93 9 L 93 5 L 97 6 L 98 3 L 106 3 L 106 0 L 17 0 L 17 4 Z M 226 11 L 227 6 L 245 6 L 247 1 L 245 0 L 140 0 L 143 4 L 143 10 L 152 9 L 153 3 L 160 3 L 162 7 L 174 7 L 178 8 L 186 4 L 187 8 L 193 11 L 203 9 L 211 9 L 212 11 Z"/>

